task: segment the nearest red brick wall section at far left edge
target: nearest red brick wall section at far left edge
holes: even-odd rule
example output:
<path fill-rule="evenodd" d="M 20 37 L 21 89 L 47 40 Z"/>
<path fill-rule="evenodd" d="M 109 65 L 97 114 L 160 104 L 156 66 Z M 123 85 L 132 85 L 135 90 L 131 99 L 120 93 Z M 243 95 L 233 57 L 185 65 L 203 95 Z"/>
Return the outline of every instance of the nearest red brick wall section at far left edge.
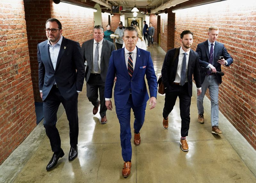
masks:
<path fill-rule="evenodd" d="M 36 126 L 23 0 L 0 2 L 0 164 Z"/>

